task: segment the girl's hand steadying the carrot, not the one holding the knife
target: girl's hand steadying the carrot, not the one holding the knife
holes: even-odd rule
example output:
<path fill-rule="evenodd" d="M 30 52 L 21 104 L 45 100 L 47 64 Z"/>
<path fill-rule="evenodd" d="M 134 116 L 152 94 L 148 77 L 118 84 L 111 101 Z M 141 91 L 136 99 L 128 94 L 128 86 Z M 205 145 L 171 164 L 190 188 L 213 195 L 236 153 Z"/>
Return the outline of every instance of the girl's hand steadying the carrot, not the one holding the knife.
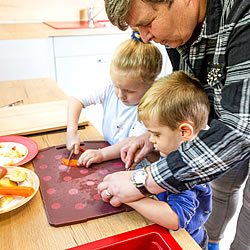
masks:
<path fill-rule="evenodd" d="M 93 163 L 103 162 L 103 154 L 101 149 L 86 150 L 78 159 L 79 166 L 88 168 Z"/>

